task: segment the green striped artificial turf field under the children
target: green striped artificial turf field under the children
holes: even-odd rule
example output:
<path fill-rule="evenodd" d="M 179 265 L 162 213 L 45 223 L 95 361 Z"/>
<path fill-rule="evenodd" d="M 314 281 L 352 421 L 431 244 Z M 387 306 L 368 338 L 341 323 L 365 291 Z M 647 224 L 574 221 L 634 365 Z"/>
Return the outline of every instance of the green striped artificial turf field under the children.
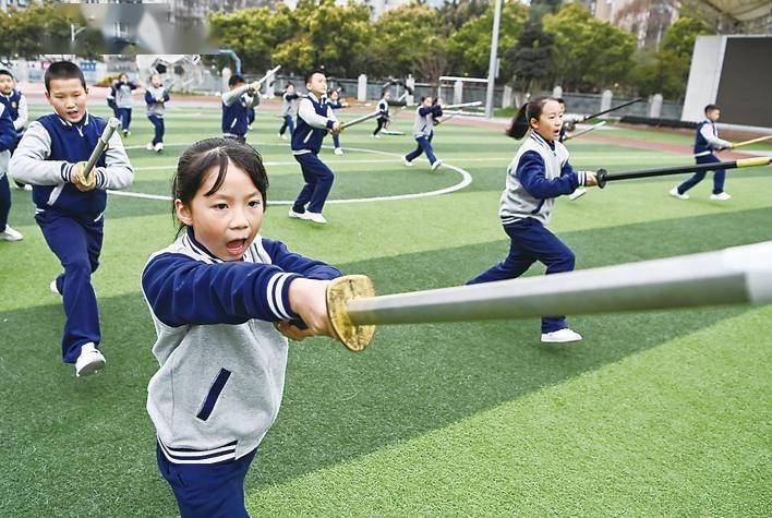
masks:
<path fill-rule="evenodd" d="M 32 116 L 44 110 L 35 105 Z M 61 363 L 64 315 L 48 290 L 60 266 L 29 193 L 13 190 L 10 224 L 24 240 L 0 242 L 0 516 L 177 513 L 144 408 L 157 363 L 140 275 L 176 234 L 170 202 L 155 197 L 169 195 L 184 145 L 220 133 L 219 109 L 170 107 L 160 155 L 144 149 L 152 129 L 144 108 L 133 118 L 129 191 L 150 197 L 108 202 L 93 277 L 107 365 L 92 377 L 77 380 Z M 279 125 L 278 111 L 258 108 L 249 135 L 270 180 L 264 236 L 366 274 L 379 293 L 460 285 L 506 256 L 496 214 L 518 144 L 500 130 L 439 125 L 435 152 L 455 168 L 434 173 L 423 157 L 401 164 L 414 146 L 407 118 L 393 128 L 405 136 L 374 140 L 374 122 L 345 132 L 343 147 L 357 150 L 322 152 L 336 172 L 336 203 L 324 210 L 329 224 L 315 227 L 275 203 L 302 185 Z M 568 143 L 575 168 L 692 162 L 672 147 L 692 136 L 595 133 L 664 145 L 577 138 Z M 772 167 L 728 171 L 726 203 L 708 200 L 710 177 L 689 201 L 668 196 L 684 178 L 563 198 L 551 228 L 578 268 L 772 240 Z M 426 195 L 441 190 L 453 192 Z M 362 201 L 373 197 L 394 198 Z M 772 514 L 772 305 L 569 322 L 584 336 L 580 345 L 541 345 L 535 318 L 382 327 L 359 354 L 326 338 L 292 342 L 284 405 L 246 481 L 251 514 Z"/>

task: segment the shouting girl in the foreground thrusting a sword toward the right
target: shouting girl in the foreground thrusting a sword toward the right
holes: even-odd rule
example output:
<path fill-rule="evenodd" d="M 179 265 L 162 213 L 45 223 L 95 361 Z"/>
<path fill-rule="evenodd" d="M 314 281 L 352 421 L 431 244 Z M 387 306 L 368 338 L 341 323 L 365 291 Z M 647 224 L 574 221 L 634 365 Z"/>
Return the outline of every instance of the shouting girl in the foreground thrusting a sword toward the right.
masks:
<path fill-rule="evenodd" d="M 180 237 L 142 274 L 159 363 L 147 411 L 183 517 L 249 516 L 244 478 L 281 405 L 287 337 L 333 334 L 325 293 L 341 274 L 261 236 L 267 188 L 252 147 L 193 144 L 172 180 Z"/>

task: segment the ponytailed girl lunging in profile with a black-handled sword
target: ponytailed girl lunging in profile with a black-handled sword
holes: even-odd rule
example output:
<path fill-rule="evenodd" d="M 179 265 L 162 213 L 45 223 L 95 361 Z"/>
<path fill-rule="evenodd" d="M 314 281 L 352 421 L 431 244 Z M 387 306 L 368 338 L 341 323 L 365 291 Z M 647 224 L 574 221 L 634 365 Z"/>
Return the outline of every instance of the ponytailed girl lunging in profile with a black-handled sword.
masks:
<path fill-rule="evenodd" d="M 468 284 L 514 279 L 536 261 L 546 266 L 546 275 L 574 269 L 574 252 L 545 227 L 555 198 L 568 195 L 581 185 L 595 185 L 595 174 L 575 171 L 568 150 L 557 142 L 563 125 L 560 105 L 552 97 L 538 97 L 522 105 L 507 134 L 512 138 L 530 135 L 507 169 L 506 189 L 498 216 L 509 236 L 509 255 Z M 542 318 L 543 342 L 581 340 L 568 328 L 565 316 Z"/>

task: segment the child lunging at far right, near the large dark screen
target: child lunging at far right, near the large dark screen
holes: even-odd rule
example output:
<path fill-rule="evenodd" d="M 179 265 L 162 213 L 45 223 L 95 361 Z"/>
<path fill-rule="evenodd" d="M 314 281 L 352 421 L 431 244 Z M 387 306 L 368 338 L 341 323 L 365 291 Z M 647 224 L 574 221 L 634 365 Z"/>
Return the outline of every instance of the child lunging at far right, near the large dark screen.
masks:
<path fill-rule="evenodd" d="M 697 134 L 695 135 L 695 161 L 697 161 L 697 164 L 719 162 L 721 160 L 713 155 L 713 150 L 731 149 L 734 147 L 731 142 L 719 138 L 719 130 L 716 130 L 715 123 L 720 117 L 721 108 L 715 105 L 705 106 L 705 118 L 698 124 Z M 671 189 L 671 196 L 675 196 L 678 200 L 689 200 L 689 195 L 686 194 L 686 191 L 700 183 L 705 178 L 705 174 L 707 171 L 695 173 L 693 177 L 680 185 Z M 713 171 L 713 193 L 710 195 L 711 200 L 725 202 L 732 197 L 724 191 L 725 177 L 726 171 L 724 169 Z"/>

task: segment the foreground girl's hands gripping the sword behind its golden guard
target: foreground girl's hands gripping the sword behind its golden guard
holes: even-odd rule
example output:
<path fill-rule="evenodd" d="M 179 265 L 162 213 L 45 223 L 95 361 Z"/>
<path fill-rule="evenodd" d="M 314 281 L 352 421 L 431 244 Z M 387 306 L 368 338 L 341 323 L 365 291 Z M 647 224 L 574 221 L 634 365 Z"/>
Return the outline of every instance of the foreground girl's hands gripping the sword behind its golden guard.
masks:
<path fill-rule="evenodd" d="M 277 329 L 288 338 L 302 340 L 306 336 L 333 336 L 327 316 L 327 285 L 329 280 L 297 278 L 289 289 L 290 308 L 303 320 L 307 329 L 300 329 L 289 322 L 281 322 Z"/>

